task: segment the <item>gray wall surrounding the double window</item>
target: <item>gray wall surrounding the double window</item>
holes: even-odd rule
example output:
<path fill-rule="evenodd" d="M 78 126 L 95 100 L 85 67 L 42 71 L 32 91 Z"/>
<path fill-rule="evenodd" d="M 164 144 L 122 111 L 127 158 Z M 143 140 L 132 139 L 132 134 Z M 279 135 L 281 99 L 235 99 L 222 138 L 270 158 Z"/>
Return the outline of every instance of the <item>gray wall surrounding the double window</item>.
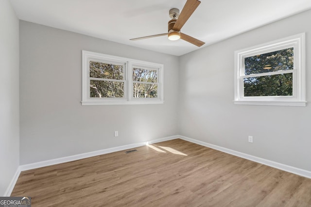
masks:
<path fill-rule="evenodd" d="M 26 21 L 19 29 L 20 164 L 178 134 L 178 57 Z M 164 64 L 164 104 L 82 106 L 82 50 Z"/>

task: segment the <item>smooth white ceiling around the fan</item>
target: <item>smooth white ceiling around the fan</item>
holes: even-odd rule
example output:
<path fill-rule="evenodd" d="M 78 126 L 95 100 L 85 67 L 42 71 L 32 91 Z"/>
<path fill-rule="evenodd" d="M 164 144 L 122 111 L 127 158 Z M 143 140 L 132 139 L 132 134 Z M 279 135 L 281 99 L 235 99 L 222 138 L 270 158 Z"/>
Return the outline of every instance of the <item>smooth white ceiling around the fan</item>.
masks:
<path fill-rule="evenodd" d="M 186 0 L 11 0 L 19 19 L 180 56 L 198 47 L 167 36 L 169 10 Z M 311 9 L 311 0 L 201 0 L 181 32 L 207 45 Z M 201 48 L 202 48 L 201 47 Z"/>

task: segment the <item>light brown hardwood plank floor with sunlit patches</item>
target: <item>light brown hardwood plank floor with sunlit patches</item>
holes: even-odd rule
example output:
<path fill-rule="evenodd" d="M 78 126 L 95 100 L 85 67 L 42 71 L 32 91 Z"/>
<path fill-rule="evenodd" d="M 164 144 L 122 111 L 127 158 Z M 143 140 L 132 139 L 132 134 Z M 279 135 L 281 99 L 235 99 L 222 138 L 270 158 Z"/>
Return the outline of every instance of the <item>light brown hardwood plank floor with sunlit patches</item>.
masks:
<path fill-rule="evenodd" d="M 311 207 L 311 179 L 180 139 L 23 171 L 33 207 Z M 127 151 L 127 150 L 126 150 Z"/>

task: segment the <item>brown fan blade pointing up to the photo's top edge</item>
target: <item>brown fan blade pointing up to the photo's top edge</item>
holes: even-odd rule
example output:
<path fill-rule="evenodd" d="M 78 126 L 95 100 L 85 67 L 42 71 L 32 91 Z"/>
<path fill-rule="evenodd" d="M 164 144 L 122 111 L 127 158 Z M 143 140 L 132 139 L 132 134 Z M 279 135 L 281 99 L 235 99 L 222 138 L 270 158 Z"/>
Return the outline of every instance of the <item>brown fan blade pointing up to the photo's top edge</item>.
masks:
<path fill-rule="evenodd" d="M 199 0 L 187 0 L 183 10 L 181 11 L 178 19 L 176 20 L 176 23 L 173 26 L 174 31 L 180 31 L 180 29 L 184 26 L 186 21 L 189 19 L 200 3 L 201 1 Z"/>

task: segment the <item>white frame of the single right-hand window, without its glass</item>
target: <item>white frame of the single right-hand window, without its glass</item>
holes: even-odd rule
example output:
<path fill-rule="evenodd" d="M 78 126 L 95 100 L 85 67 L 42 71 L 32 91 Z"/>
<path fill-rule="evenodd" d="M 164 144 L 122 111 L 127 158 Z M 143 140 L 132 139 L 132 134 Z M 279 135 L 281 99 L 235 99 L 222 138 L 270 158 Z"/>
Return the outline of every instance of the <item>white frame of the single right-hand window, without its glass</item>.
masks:
<path fill-rule="evenodd" d="M 247 57 L 294 48 L 294 69 L 245 75 Z M 293 73 L 293 96 L 244 96 L 243 78 Z M 235 51 L 234 103 L 242 105 L 306 106 L 305 33 Z"/>

